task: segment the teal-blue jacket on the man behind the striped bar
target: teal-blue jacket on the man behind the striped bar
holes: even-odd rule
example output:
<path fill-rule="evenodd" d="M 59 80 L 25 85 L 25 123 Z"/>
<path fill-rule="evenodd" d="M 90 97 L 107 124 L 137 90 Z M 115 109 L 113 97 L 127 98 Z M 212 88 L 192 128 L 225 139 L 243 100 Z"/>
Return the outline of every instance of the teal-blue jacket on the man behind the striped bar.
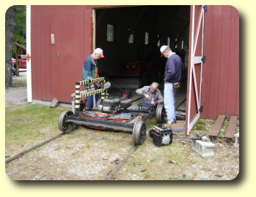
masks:
<path fill-rule="evenodd" d="M 95 61 L 95 64 L 97 66 L 97 61 Z M 92 55 L 89 55 L 88 58 L 86 58 L 86 61 L 83 63 L 83 80 L 91 80 L 94 78 L 95 73 L 95 65 L 94 65 L 94 59 L 92 58 Z M 99 74 L 98 76 L 99 77 Z M 89 85 L 85 85 L 88 87 Z"/>

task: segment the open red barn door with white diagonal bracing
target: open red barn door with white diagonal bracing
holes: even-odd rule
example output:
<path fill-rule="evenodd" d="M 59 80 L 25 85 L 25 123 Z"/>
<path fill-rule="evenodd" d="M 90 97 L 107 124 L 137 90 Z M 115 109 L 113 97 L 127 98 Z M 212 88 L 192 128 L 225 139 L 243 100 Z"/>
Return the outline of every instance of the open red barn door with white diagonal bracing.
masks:
<path fill-rule="evenodd" d="M 194 5 L 190 8 L 189 64 L 187 81 L 187 116 L 185 134 L 189 134 L 200 118 L 201 87 L 203 73 L 203 28 L 205 6 Z"/>

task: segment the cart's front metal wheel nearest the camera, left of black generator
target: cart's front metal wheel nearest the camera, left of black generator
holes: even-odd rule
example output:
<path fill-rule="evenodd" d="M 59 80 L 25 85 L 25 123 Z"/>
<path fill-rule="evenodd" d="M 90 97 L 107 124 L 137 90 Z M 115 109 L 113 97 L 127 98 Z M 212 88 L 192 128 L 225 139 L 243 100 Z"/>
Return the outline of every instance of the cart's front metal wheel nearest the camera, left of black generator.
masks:
<path fill-rule="evenodd" d="M 132 141 L 135 146 L 141 145 L 146 140 L 146 123 L 142 120 L 138 120 L 132 131 Z"/>

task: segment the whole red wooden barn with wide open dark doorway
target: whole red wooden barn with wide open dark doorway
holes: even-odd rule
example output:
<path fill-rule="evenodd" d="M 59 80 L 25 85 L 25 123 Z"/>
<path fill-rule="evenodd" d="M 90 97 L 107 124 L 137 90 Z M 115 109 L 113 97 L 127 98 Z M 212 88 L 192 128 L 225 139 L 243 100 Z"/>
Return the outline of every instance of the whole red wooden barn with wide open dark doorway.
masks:
<path fill-rule="evenodd" d="M 106 57 L 101 72 L 115 75 L 121 62 L 150 58 L 153 74 L 161 74 L 159 48 L 170 45 L 188 71 L 186 130 L 199 117 L 239 115 L 239 15 L 232 6 L 33 5 L 27 12 L 29 101 L 70 103 L 96 47 Z"/>

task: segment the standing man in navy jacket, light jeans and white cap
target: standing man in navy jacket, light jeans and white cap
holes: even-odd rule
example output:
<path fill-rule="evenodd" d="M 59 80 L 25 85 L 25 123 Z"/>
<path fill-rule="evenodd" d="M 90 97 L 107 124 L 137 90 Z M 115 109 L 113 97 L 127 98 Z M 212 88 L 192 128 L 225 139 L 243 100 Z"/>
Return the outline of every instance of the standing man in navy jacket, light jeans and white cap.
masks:
<path fill-rule="evenodd" d="M 165 64 L 165 91 L 164 103 L 167 114 L 167 124 L 176 123 L 176 87 L 177 82 L 181 81 L 181 69 L 184 64 L 181 58 L 168 47 L 163 45 L 160 48 L 161 57 L 167 58 Z"/>

